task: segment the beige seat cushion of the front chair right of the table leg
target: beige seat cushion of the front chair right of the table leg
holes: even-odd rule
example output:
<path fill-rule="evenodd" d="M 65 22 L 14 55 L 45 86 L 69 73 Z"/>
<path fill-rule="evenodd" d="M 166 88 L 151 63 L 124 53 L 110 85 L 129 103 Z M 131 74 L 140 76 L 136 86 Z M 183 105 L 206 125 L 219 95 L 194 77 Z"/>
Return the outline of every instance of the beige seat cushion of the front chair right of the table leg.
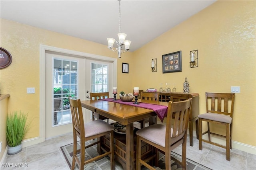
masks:
<path fill-rule="evenodd" d="M 171 129 L 171 135 L 172 136 Z M 165 147 L 165 132 L 166 132 L 166 125 L 163 124 L 154 124 L 148 127 L 142 128 L 136 132 L 136 135 L 139 135 L 157 145 Z M 177 131 L 178 134 L 178 131 Z"/>

